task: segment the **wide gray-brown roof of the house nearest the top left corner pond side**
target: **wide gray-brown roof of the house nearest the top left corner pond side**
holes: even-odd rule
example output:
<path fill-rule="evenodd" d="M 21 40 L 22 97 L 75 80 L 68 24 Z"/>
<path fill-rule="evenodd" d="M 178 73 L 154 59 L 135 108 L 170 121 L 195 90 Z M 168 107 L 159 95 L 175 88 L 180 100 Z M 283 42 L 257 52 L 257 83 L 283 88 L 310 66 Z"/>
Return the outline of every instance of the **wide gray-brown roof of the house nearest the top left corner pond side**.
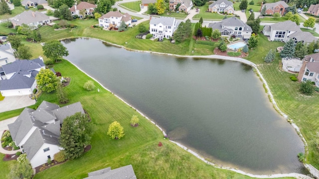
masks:
<path fill-rule="evenodd" d="M 29 24 L 29 23 L 44 21 L 49 19 L 50 17 L 45 15 L 44 13 L 28 10 L 28 11 L 23 11 L 22 13 L 14 16 L 11 19 L 11 22 L 18 25 L 22 25 L 23 23 Z"/>

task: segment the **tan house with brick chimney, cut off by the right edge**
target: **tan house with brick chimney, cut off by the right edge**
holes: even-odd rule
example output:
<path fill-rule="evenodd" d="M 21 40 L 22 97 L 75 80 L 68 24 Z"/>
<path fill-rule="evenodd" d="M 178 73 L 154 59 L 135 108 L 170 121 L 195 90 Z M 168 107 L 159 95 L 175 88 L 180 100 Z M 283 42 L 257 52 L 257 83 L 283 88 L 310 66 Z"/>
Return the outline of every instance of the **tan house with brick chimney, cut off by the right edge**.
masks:
<path fill-rule="evenodd" d="M 307 55 L 298 74 L 299 81 L 310 80 L 319 88 L 319 53 Z"/>

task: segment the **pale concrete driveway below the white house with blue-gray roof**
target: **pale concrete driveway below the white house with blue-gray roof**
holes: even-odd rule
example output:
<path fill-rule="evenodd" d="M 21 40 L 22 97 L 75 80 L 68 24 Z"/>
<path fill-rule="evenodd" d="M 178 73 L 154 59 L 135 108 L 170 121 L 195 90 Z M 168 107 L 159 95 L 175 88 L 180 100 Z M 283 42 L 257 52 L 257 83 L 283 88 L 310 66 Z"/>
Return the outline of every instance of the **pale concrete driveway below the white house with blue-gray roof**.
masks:
<path fill-rule="evenodd" d="M 7 96 L 0 101 L 0 112 L 19 109 L 33 104 L 35 104 L 35 100 L 30 99 L 29 95 Z"/>

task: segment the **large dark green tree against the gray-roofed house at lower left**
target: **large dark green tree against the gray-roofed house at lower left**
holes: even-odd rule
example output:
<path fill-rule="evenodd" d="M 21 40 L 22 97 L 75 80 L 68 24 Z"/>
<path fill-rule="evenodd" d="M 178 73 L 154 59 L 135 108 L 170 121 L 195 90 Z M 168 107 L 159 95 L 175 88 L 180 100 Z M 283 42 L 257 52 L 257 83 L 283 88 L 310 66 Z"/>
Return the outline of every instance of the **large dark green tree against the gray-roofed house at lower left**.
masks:
<path fill-rule="evenodd" d="M 93 126 L 85 114 L 77 112 L 63 120 L 59 142 L 64 148 L 66 159 L 76 159 L 83 155 L 92 132 Z"/>

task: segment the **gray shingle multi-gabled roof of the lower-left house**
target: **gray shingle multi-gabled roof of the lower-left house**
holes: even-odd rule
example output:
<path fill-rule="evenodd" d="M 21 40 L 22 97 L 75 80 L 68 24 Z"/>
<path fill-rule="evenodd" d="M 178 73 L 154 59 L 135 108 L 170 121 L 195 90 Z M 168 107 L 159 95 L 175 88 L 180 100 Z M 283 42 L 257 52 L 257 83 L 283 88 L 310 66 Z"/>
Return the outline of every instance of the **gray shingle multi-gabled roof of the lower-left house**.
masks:
<path fill-rule="evenodd" d="M 80 102 L 59 107 L 56 104 L 42 101 L 36 110 L 24 108 L 19 117 L 13 123 L 8 124 L 8 128 L 12 139 L 17 145 L 20 144 L 30 130 L 34 130 L 25 143 L 22 144 L 27 158 L 31 160 L 44 143 L 59 145 L 60 122 L 66 116 L 71 116 L 76 112 L 84 114 Z M 50 120 L 53 120 L 53 122 L 46 123 Z"/>

